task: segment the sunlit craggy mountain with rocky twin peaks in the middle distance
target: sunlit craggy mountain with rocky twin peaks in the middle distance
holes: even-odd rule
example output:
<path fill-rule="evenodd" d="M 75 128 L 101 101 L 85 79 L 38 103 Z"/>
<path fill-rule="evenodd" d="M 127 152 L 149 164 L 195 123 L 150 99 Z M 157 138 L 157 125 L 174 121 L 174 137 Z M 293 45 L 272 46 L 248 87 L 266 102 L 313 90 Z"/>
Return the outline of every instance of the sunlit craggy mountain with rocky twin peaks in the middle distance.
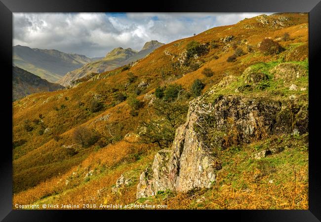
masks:
<path fill-rule="evenodd" d="M 163 45 L 163 43 L 152 40 L 146 42 L 142 50 L 139 52 L 136 52 L 131 48 L 115 48 L 107 53 L 103 59 L 88 63 L 78 70 L 67 73 L 63 78 L 58 80 L 57 83 L 64 86 L 75 85 L 78 79 L 85 77 L 86 75 L 114 70 L 120 66 L 142 59 L 161 45 Z"/>

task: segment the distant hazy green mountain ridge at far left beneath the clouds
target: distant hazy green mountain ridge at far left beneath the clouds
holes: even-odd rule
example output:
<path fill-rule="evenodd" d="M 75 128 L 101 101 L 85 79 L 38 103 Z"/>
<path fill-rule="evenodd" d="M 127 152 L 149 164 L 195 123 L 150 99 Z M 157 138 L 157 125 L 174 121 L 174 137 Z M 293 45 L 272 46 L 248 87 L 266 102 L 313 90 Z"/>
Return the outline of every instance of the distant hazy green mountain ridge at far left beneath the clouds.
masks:
<path fill-rule="evenodd" d="M 13 65 L 55 82 L 69 71 L 80 68 L 92 60 L 84 55 L 69 54 L 54 49 L 38 49 L 16 45 Z"/>

